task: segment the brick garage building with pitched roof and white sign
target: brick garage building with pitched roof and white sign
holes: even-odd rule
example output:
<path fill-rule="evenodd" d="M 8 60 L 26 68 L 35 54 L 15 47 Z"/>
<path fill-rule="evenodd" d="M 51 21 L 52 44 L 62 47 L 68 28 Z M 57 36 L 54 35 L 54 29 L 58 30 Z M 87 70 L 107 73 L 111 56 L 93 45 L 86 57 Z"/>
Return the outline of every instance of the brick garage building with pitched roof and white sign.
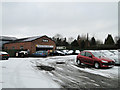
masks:
<path fill-rule="evenodd" d="M 4 49 L 6 50 L 29 50 L 30 54 L 39 50 L 55 50 L 55 48 L 55 42 L 46 35 L 17 39 L 4 44 Z"/>

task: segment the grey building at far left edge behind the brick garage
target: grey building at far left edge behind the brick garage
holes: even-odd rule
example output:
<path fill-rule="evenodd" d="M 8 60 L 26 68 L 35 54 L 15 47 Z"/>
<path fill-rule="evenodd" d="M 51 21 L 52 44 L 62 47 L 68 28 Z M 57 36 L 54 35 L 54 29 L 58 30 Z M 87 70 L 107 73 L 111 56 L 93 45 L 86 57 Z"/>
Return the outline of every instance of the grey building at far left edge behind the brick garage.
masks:
<path fill-rule="evenodd" d="M 0 50 L 2 50 L 3 44 L 16 40 L 15 37 L 0 36 Z"/>

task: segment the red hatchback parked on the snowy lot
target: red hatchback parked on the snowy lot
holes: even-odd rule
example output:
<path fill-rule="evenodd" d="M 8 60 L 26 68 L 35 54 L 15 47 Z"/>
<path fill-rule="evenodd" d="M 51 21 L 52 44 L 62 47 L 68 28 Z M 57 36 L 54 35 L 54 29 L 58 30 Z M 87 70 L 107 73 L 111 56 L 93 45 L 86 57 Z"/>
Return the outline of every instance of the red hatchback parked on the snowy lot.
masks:
<path fill-rule="evenodd" d="M 78 54 L 76 62 L 78 65 L 84 63 L 92 65 L 95 68 L 113 67 L 115 64 L 115 61 L 103 57 L 102 54 L 97 51 L 82 51 L 80 54 Z"/>

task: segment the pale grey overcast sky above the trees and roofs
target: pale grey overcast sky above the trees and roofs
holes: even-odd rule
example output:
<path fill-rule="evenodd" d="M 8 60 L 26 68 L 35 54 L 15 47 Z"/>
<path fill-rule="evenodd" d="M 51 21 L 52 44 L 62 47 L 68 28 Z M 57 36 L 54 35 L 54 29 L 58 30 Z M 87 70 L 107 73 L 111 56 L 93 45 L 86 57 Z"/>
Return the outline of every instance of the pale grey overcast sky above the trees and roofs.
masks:
<path fill-rule="evenodd" d="M 117 2 L 3 2 L 2 35 L 17 38 L 89 33 L 104 41 L 118 35 Z"/>

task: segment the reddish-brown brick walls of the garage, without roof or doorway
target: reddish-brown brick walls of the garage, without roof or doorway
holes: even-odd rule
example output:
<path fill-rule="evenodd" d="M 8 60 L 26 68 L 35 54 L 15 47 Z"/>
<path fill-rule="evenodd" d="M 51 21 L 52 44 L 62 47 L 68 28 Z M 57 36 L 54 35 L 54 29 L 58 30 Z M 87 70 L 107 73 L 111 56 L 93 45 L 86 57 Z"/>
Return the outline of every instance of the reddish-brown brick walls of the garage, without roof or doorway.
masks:
<path fill-rule="evenodd" d="M 47 39 L 48 42 L 43 42 L 43 39 Z M 56 48 L 56 44 L 53 40 L 51 40 L 50 38 L 43 36 L 41 38 L 38 38 L 34 41 L 31 42 L 19 42 L 19 43 L 9 43 L 9 44 L 4 44 L 4 48 L 6 49 L 13 49 L 13 47 L 15 47 L 15 49 L 20 49 L 21 46 L 23 46 L 23 49 L 29 49 L 30 53 L 34 53 L 36 52 L 36 45 L 53 45 L 54 46 L 54 50 Z"/>

